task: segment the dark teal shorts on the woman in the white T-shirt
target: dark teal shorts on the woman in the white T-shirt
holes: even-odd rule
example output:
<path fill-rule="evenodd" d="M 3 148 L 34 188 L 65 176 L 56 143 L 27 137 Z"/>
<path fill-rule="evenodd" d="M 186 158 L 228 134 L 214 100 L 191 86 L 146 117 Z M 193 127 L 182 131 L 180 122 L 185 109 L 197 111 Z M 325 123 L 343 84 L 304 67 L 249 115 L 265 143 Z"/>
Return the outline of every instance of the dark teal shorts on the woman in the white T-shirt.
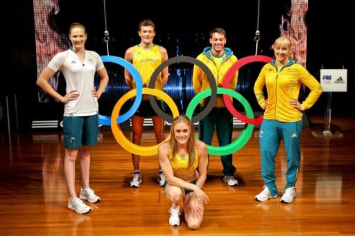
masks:
<path fill-rule="evenodd" d="M 64 147 L 94 146 L 98 136 L 98 114 L 63 117 Z"/>

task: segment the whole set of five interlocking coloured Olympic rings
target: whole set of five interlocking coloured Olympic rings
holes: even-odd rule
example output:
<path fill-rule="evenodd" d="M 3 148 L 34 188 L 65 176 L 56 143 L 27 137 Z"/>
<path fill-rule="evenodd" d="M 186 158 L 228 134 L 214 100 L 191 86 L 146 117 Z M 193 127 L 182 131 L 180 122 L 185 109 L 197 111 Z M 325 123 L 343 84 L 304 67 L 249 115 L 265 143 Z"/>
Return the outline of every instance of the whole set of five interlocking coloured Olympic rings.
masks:
<path fill-rule="evenodd" d="M 112 133 L 114 134 L 114 138 L 116 138 L 116 141 L 128 152 L 131 152 L 132 154 L 137 154 L 141 156 L 153 156 L 157 154 L 157 147 L 158 145 L 150 146 L 150 147 L 142 147 L 139 145 L 135 145 L 134 143 L 131 143 L 130 140 L 128 140 L 124 135 L 123 132 L 121 131 L 121 128 L 119 127 L 118 124 L 121 122 L 124 122 L 125 120 L 128 120 L 131 116 L 135 114 L 135 111 L 137 111 L 139 104 L 142 99 L 143 94 L 149 94 L 150 98 L 150 104 L 152 105 L 154 111 L 164 118 L 164 120 L 167 120 L 168 122 L 173 121 L 173 117 L 178 116 L 179 111 L 178 107 L 175 105 L 175 102 L 173 99 L 168 96 L 168 94 L 164 93 L 163 91 L 154 89 L 155 87 L 155 81 L 157 80 L 157 75 L 166 67 L 174 63 L 179 63 L 179 62 L 187 62 L 191 64 L 195 64 L 197 66 L 200 66 L 202 71 L 204 71 L 207 74 L 207 78 L 209 79 L 209 83 L 211 85 L 211 89 L 206 89 L 205 91 L 202 91 L 201 93 L 198 93 L 191 102 L 189 103 L 189 106 L 187 107 L 186 114 L 193 122 L 199 121 L 202 118 L 205 118 L 207 114 L 209 114 L 209 111 L 213 109 L 216 99 L 217 99 L 217 94 L 223 94 L 223 100 L 225 102 L 225 105 L 227 109 L 231 112 L 231 114 L 239 118 L 242 122 L 246 123 L 246 126 L 244 127 L 243 131 L 239 135 L 236 140 L 234 140 L 232 143 L 229 145 L 225 145 L 222 147 L 213 147 L 211 145 L 207 145 L 207 150 L 209 154 L 211 155 L 227 155 L 227 154 L 232 154 L 239 149 L 241 149 L 246 143 L 248 143 L 248 140 L 250 139 L 252 135 L 252 130 L 254 129 L 254 125 L 259 125 L 262 120 L 262 116 L 259 118 L 254 119 L 254 114 L 252 111 L 252 108 L 250 107 L 250 104 L 248 103 L 247 100 L 243 96 L 241 96 L 240 93 L 237 93 L 236 91 L 232 89 L 228 89 L 228 85 L 230 84 L 230 81 L 232 80 L 232 77 L 235 73 L 236 70 L 240 69 L 242 66 L 245 64 L 248 64 L 250 62 L 270 62 L 272 60 L 271 57 L 266 57 L 266 56 L 249 56 L 249 57 L 243 57 L 241 60 L 237 61 L 235 64 L 232 65 L 232 67 L 227 71 L 225 77 L 223 78 L 223 88 L 218 88 L 216 86 L 216 81 L 214 80 L 214 75 L 211 73 L 209 68 L 199 60 L 197 60 L 194 57 L 187 57 L 187 56 L 182 56 L 182 57 L 173 57 L 166 62 L 163 62 L 160 66 L 157 67 L 157 69 L 154 71 L 153 75 L 150 78 L 149 82 L 149 88 L 144 88 L 143 87 L 143 82 L 141 80 L 141 75 L 139 75 L 137 69 L 135 69 L 130 62 L 123 60 L 121 57 L 115 57 L 115 56 L 102 56 L 103 62 L 114 62 L 116 64 L 120 64 L 123 66 L 125 69 L 127 69 L 133 78 L 135 78 L 135 82 L 137 84 L 137 89 L 133 89 L 129 91 L 128 93 L 125 93 L 124 96 L 122 96 L 117 102 L 116 105 L 114 106 L 114 109 L 112 111 L 112 116 L 110 120 L 111 124 L 111 129 Z M 136 96 L 135 102 L 133 103 L 131 109 L 119 116 L 119 111 L 123 104 L 130 98 Z M 161 98 L 166 102 L 168 107 L 170 107 L 173 117 L 169 116 L 166 114 L 160 107 L 157 105 L 157 101 L 155 100 L 155 97 Z M 211 96 L 209 99 L 209 102 L 207 103 L 207 106 L 205 109 L 203 109 L 199 114 L 196 116 L 193 116 L 193 111 L 196 109 L 198 106 L 199 102 L 208 96 Z M 243 116 L 239 114 L 236 109 L 234 109 L 232 102 L 230 100 L 230 97 L 232 96 L 233 98 L 236 98 L 241 102 L 245 109 L 245 114 L 246 116 Z M 193 116 L 193 117 L 192 117 Z M 108 125 L 107 117 L 99 115 L 99 122 L 103 125 Z M 168 140 L 170 136 L 166 138 Z"/>

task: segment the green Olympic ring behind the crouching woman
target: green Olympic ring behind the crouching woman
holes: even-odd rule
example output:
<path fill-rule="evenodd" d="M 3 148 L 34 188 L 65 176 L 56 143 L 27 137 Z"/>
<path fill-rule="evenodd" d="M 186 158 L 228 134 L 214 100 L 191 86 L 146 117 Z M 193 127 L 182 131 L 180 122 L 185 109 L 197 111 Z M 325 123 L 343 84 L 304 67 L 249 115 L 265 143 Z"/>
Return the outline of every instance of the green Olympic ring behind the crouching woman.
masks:
<path fill-rule="evenodd" d="M 198 93 L 195 97 L 193 97 L 193 99 L 189 103 L 189 106 L 187 107 L 187 112 L 186 112 L 187 117 L 191 118 L 193 111 L 196 109 L 200 100 L 207 98 L 209 96 L 209 93 L 211 93 L 211 89 L 206 89 L 206 90 L 202 91 L 201 93 Z M 227 95 L 232 96 L 233 98 L 236 98 L 237 100 L 239 100 L 239 102 L 241 102 L 241 105 L 243 105 L 243 107 L 245 109 L 245 114 L 247 114 L 247 116 L 249 116 L 251 118 L 254 118 L 252 107 L 250 107 L 249 102 L 243 96 L 241 96 L 240 93 L 238 93 L 232 89 L 225 89 L 225 88 L 218 88 L 217 93 L 218 94 L 226 94 L 226 97 L 228 98 L 228 100 L 229 100 L 229 97 Z M 241 134 L 239 135 L 239 137 L 236 138 L 236 140 L 234 140 L 232 143 L 230 143 L 228 145 L 221 146 L 221 147 L 214 147 L 211 145 L 207 145 L 208 153 L 211 155 L 223 156 L 223 155 L 232 154 L 232 153 L 238 151 L 246 143 L 248 143 L 248 140 L 252 136 L 253 129 L 254 129 L 254 125 L 250 125 L 250 124 L 246 125 L 244 127 L 243 131 L 241 131 Z"/>

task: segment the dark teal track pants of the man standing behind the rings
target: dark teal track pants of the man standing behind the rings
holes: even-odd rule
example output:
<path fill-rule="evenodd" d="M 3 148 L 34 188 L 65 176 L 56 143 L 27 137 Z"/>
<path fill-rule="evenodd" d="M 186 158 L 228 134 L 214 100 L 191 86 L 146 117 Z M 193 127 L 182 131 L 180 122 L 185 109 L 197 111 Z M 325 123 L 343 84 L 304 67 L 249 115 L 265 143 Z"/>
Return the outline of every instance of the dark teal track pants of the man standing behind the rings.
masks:
<path fill-rule="evenodd" d="M 201 108 L 203 109 L 203 107 Z M 233 117 L 227 108 L 215 107 L 205 118 L 200 120 L 198 124 L 200 140 L 211 145 L 215 127 L 220 146 L 232 143 Z M 222 161 L 223 165 L 223 174 L 226 176 L 234 176 L 236 167 L 234 167 L 232 163 L 232 154 L 220 156 L 220 161 Z"/>

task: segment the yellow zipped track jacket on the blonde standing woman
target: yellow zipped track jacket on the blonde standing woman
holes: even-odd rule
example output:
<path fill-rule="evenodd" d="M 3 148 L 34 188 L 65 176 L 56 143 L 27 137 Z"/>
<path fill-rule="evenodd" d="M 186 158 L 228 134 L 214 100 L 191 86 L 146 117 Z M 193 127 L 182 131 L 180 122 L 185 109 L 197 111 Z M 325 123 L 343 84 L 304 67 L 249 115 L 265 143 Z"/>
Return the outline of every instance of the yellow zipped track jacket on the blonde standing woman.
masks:
<path fill-rule="evenodd" d="M 311 89 L 306 100 L 302 102 L 302 110 L 305 110 L 312 107 L 322 93 L 318 80 L 302 65 L 292 60 L 279 70 L 275 66 L 275 60 L 263 66 L 254 84 L 254 93 L 260 107 L 266 102 L 263 94 L 263 87 L 266 84 L 269 107 L 265 110 L 263 118 L 281 122 L 302 120 L 302 112 L 290 105 L 291 98 L 298 99 L 302 83 Z"/>

